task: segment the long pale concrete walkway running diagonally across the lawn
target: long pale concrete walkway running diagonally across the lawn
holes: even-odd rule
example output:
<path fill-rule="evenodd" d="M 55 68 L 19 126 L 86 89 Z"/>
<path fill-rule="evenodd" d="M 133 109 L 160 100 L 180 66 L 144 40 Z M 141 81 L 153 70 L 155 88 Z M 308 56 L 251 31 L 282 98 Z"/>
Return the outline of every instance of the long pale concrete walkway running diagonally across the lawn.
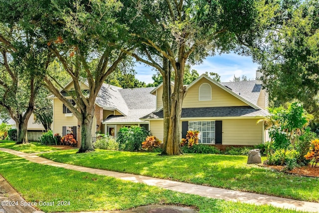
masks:
<path fill-rule="evenodd" d="M 150 177 L 145 177 L 140 175 L 132 175 L 132 174 L 126 174 L 126 173 L 118 173 L 118 172 L 111 172 L 106 170 L 74 166 L 69 164 L 57 163 L 57 162 L 36 156 L 35 154 L 27 154 L 27 153 L 22 153 L 22 152 L 10 150 L 10 149 L 4 149 L 4 148 L 0 148 L 0 151 L 16 155 L 18 157 L 24 158 L 33 163 L 50 165 L 54 167 L 62 167 L 65 169 L 76 170 L 80 172 L 88 172 L 88 173 L 97 174 L 97 175 L 110 176 L 110 177 L 119 178 L 125 181 L 132 181 L 135 183 L 143 183 L 150 186 L 157 186 L 157 187 L 161 187 L 167 190 L 172 190 L 175 192 L 194 194 L 194 195 L 199 195 L 199 196 L 207 197 L 207 198 L 223 199 L 225 201 L 235 201 L 235 202 L 237 201 L 237 202 L 256 204 L 256 205 L 272 205 L 279 208 L 319 213 L 319 203 L 296 201 L 291 199 L 259 195 L 254 193 L 225 190 L 225 189 L 219 189 L 214 187 L 206 187 L 206 186 L 200 186 L 195 184 L 187 184 L 182 182 L 163 180 L 158 178 L 150 178 Z"/>

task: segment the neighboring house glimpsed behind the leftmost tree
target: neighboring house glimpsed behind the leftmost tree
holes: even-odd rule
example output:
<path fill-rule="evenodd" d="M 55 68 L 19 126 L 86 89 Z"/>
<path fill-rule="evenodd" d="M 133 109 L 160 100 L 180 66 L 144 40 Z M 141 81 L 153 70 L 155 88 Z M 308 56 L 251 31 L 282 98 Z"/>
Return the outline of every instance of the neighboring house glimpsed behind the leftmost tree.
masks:
<path fill-rule="evenodd" d="M 40 136 L 45 132 L 43 125 L 36 123 L 35 119 L 35 115 L 32 113 L 28 120 L 27 137 L 29 141 L 39 141 Z M 16 129 L 15 121 L 12 118 L 7 121 L 7 124 L 11 125 L 12 129 Z"/>

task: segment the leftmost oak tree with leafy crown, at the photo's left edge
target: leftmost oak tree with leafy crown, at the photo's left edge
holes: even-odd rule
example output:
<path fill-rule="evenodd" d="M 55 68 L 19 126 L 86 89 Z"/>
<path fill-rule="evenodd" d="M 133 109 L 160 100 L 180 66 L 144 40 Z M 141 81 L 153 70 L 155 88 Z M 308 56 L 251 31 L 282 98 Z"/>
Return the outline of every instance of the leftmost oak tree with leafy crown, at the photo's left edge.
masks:
<path fill-rule="evenodd" d="M 4 8 L 2 8 L 4 9 Z M 28 143 L 27 123 L 42 85 L 46 54 L 14 19 L 0 12 L 0 105 L 15 121 L 16 144 Z"/>

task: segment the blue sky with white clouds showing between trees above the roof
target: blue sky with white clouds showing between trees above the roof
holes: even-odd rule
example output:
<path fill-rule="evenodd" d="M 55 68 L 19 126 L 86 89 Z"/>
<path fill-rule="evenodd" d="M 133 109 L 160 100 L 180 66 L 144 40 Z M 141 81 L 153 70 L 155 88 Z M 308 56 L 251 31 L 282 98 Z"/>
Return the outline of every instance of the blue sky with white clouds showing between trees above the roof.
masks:
<path fill-rule="evenodd" d="M 203 63 L 191 66 L 191 69 L 198 71 L 199 75 L 209 72 L 216 72 L 221 76 L 222 82 L 232 81 L 234 75 L 241 77 L 247 76 L 248 79 L 255 79 L 257 63 L 253 63 L 250 56 L 241 56 L 235 53 L 215 55 L 207 57 Z M 136 63 L 136 78 L 145 83 L 153 83 L 152 75 L 156 73 L 155 69 L 144 64 Z"/>

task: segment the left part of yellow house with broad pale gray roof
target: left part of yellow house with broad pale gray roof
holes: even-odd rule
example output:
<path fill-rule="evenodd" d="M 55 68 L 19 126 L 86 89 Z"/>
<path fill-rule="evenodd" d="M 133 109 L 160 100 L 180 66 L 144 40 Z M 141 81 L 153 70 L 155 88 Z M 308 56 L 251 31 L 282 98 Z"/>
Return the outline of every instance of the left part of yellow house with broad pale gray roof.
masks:
<path fill-rule="evenodd" d="M 88 90 L 87 82 L 81 83 L 81 88 Z M 95 141 L 97 132 L 116 137 L 120 128 L 126 126 L 143 126 L 149 129 L 149 122 L 140 118 L 156 109 L 156 96 L 150 93 L 153 89 L 154 87 L 123 89 L 103 84 L 95 100 L 92 140 Z M 71 90 L 74 90 L 72 82 L 64 87 L 64 91 Z M 62 94 L 67 95 L 66 92 Z M 77 141 L 80 141 L 80 123 L 77 118 L 58 98 L 53 95 L 48 98 L 53 101 L 53 133 L 64 136 L 73 132 Z M 74 103 L 71 97 L 66 98 Z"/>

